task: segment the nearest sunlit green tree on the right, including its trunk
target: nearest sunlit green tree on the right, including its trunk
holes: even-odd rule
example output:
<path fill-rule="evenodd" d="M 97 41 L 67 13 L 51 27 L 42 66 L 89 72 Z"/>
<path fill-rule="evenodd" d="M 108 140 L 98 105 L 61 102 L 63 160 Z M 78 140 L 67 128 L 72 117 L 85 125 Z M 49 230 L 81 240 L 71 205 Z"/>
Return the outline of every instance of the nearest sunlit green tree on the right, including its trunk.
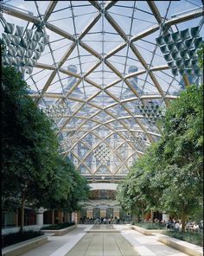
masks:
<path fill-rule="evenodd" d="M 187 215 L 202 202 L 203 185 L 203 85 L 188 86 L 170 105 L 163 119 L 163 152 L 165 170 L 160 180 L 170 182 L 164 190 L 165 208 L 174 203 L 182 215 L 182 231 Z M 166 184 L 168 186 L 168 184 Z M 168 191 L 169 190 L 169 191 Z M 169 193 L 171 191 L 171 193 Z M 177 196 L 175 196 L 175 194 Z M 169 202 L 169 203 L 168 203 Z"/>

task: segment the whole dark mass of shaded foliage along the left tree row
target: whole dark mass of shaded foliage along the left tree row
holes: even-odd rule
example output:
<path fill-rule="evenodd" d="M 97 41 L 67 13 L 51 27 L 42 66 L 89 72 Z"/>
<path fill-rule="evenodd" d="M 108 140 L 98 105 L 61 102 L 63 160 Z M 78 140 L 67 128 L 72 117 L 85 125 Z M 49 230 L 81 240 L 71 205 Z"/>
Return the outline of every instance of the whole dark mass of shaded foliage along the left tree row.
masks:
<path fill-rule="evenodd" d="M 26 203 L 73 211 L 87 198 L 89 187 L 73 164 L 59 156 L 53 123 L 35 106 L 28 88 L 13 67 L 3 67 L 3 206 L 23 208 Z"/>

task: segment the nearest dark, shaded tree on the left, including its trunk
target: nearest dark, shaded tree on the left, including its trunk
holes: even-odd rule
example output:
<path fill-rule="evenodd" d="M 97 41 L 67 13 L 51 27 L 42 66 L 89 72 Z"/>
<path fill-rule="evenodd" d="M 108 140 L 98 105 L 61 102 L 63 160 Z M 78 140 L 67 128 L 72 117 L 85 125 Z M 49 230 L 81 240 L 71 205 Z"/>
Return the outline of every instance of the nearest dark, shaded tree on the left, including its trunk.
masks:
<path fill-rule="evenodd" d="M 32 186 L 43 189 L 54 175 L 58 141 L 52 123 L 35 106 L 28 86 L 13 67 L 3 67 L 2 101 L 2 195 L 20 203 L 21 232 L 24 205 L 35 199 Z"/>

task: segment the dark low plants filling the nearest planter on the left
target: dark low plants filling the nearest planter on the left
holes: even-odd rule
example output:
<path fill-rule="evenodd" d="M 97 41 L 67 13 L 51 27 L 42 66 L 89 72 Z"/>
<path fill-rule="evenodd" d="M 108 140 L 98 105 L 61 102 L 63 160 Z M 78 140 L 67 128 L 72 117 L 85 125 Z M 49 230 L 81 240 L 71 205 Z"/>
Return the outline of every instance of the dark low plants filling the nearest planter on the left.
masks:
<path fill-rule="evenodd" d="M 6 246 L 14 245 L 16 243 L 20 243 L 24 240 L 35 238 L 42 234 L 43 233 L 41 231 L 33 231 L 33 230 L 24 231 L 22 234 L 20 233 L 5 234 L 2 236 L 2 248 Z"/>

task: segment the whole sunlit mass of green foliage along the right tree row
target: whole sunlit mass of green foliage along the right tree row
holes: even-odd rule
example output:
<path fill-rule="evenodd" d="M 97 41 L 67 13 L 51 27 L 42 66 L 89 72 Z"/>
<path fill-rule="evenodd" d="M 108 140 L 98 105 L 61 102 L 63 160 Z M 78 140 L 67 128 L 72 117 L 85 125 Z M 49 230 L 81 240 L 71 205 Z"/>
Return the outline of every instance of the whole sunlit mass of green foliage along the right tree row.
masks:
<path fill-rule="evenodd" d="M 201 221 L 203 209 L 203 85 L 188 86 L 170 103 L 161 122 L 162 138 L 132 167 L 118 186 L 124 209 L 160 210 Z M 184 225 L 182 225 L 184 227 Z"/>

